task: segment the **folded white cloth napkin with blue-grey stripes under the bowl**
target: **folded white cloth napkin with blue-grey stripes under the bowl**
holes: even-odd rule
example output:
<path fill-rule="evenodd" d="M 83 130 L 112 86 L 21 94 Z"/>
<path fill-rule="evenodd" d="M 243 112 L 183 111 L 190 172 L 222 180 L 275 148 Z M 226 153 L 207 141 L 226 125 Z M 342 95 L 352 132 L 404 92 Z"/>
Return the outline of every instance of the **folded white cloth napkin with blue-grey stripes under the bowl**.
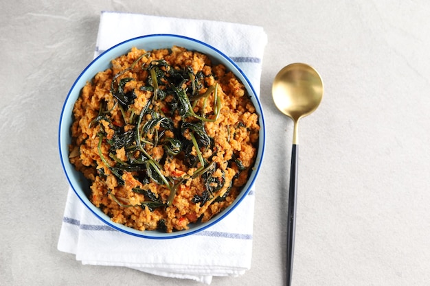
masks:
<path fill-rule="evenodd" d="M 267 36 L 262 27 L 102 12 L 95 56 L 145 34 L 180 34 L 223 51 L 260 90 Z M 69 189 L 58 250 L 82 264 L 131 267 L 142 272 L 210 284 L 213 276 L 238 276 L 251 266 L 254 191 L 218 224 L 177 239 L 143 239 L 103 224 Z"/>

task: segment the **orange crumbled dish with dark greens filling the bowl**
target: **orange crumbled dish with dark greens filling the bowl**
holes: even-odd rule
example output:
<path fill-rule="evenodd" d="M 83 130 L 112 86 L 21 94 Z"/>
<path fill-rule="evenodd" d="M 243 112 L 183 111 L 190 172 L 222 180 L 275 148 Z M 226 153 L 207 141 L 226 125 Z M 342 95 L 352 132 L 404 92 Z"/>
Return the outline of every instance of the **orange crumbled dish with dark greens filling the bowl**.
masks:
<path fill-rule="evenodd" d="M 247 182 L 258 114 L 245 86 L 203 53 L 133 48 L 82 88 L 70 161 L 113 222 L 172 232 L 207 222 Z"/>

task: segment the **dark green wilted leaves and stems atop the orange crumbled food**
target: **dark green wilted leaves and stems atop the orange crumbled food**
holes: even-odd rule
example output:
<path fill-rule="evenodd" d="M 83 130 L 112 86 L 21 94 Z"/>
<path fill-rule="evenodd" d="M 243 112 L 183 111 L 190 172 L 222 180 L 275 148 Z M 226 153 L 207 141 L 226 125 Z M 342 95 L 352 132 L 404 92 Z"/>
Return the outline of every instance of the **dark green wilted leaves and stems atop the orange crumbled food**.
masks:
<path fill-rule="evenodd" d="M 142 58 L 143 56 L 138 58 L 128 69 L 113 75 L 110 91 L 115 104 L 113 108 L 107 109 L 107 102 L 103 102 L 99 115 L 91 121 L 92 126 L 98 124 L 100 129 L 98 154 L 116 177 L 118 184 L 125 183 L 124 172 L 133 172 L 133 177 L 142 186 L 152 182 L 170 191 L 168 200 L 162 202 L 148 189 L 133 188 L 135 193 L 144 194 L 147 198 L 140 204 L 142 208 L 147 207 L 153 211 L 161 206 L 170 206 L 180 185 L 197 177 L 201 177 L 205 189 L 201 195 L 195 195 L 192 201 L 203 206 L 214 198 L 216 192 L 225 184 L 225 174 L 213 176 L 217 169 L 216 163 L 205 160 L 202 154 L 212 148 L 214 143 L 214 139 L 205 130 L 205 122 L 214 122 L 220 116 L 222 102 L 218 95 L 218 84 L 208 86 L 205 92 L 201 92 L 205 86 L 203 73 L 194 73 L 192 67 L 175 69 L 170 67 L 166 60 L 153 60 L 142 64 L 148 78 L 144 84 L 137 86 L 139 91 L 149 92 L 150 98 L 141 110 L 136 110 L 133 104 L 137 95 L 133 88 L 127 88 L 127 84 L 138 82 L 138 79 L 126 76 L 126 72 L 131 71 Z M 213 112 L 201 112 L 197 115 L 193 105 L 202 99 L 204 107 L 210 98 L 213 100 Z M 113 122 L 109 117 L 115 107 L 120 108 L 122 113 L 120 123 L 118 119 Z M 177 115 L 181 117 L 181 121 L 175 126 L 172 117 Z M 106 130 L 106 126 L 109 130 Z M 103 142 L 109 143 L 109 158 L 113 163 L 109 163 L 103 154 Z M 162 146 L 165 151 L 161 157 L 150 152 L 150 148 L 157 146 Z M 124 158 L 117 156 L 118 150 L 122 149 L 126 155 Z M 194 173 L 179 177 L 166 176 L 163 164 L 175 156 L 181 157 L 188 167 L 194 167 Z M 241 167 L 236 158 L 235 162 Z M 99 169 L 99 173 L 104 175 L 102 169 Z M 228 193 L 228 190 L 225 193 Z M 120 206 L 133 206 L 122 203 L 112 193 L 110 195 Z M 219 199 L 218 197 L 217 200 Z"/>

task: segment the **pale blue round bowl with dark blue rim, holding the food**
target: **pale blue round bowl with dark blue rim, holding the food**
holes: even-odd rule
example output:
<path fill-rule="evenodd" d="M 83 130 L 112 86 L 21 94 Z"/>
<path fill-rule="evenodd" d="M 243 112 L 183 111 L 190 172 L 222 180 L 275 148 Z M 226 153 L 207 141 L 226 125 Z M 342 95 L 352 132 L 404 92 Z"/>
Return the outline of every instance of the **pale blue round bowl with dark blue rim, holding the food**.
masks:
<path fill-rule="evenodd" d="M 185 49 L 191 51 L 199 51 L 201 53 L 205 53 L 212 60 L 212 64 L 224 64 L 227 67 L 227 70 L 232 71 L 236 77 L 245 85 L 248 94 L 251 96 L 251 102 L 256 107 L 256 111 L 259 115 L 259 124 L 260 124 L 260 139 L 258 142 L 258 153 L 256 157 L 256 163 L 251 171 L 248 182 L 243 187 L 242 191 L 238 195 L 238 198 L 234 200 L 234 202 L 228 206 L 224 211 L 220 212 L 216 217 L 210 219 L 209 222 L 205 223 L 195 223 L 190 224 L 190 229 L 181 230 L 174 233 L 162 233 L 158 230 L 135 230 L 133 228 L 124 226 L 122 224 L 117 224 L 112 222 L 110 217 L 105 215 L 100 208 L 94 206 L 88 196 L 90 193 L 89 183 L 84 176 L 76 171 L 74 166 L 69 162 L 69 144 L 71 143 L 71 134 L 70 134 L 70 126 L 73 121 L 72 110 L 73 106 L 80 95 L 80 91 L 82 87 L 94 77 L 96 73 L 99 71 L 104 71 L 111 67 L 111 60 L 117 58 L 119 56 L 128 53 L 132 47 L 137 47 L 138 49 L 146 49 L 150 51 L 152 49 L 166 49 L 172 46 L 185 47 Z M 193 38 L 188 38 L 185 36 L 177 36 L 170 34 L 155 34 L 148 36 L 141 36 L 138 38 L 132 38 L 130 40 L 126 40 L 123 43 L 115 45 L 110 49 L 104 51 L 100 56 L 95 58 L 88 67 L 80 73 L 78 79 L 73 83 L 69 94 L 65 99 L 65 103 L 63 106 L 63 110 L 60 115 L 60 126 L 58 130 L 58 145 L 60 149 L 60 159 L 63 164 L 63 169 L 67 176 L 67 180 L 69 180 L 69 184 L 73 191 L 78 195 L 78 198 L 82 201 L 82 203 L 89 208 L 89 210 L 99 219 L 102 220 L 105 224 L 115 228 L 116 230 L 120 230 L 122 233 L 127 233 L 129 235 L 135 235 L 137 237 L 144 237 L 150 239 L 170 239 L 175 237 L 183 237 L 185 235 L 191 235 L 193 233 L 197 233 L 209 226 L 212 226 L 219 222 L 221 219 L 229 215 L 231 211 L 242 202 L 243 198 L 249 193 L 253 183 L 256 180 L 258 171 L 260 170 L 260 165 L 262 163 L 262 156 L 264 153 L 264 144 L 265 144 L 265 131 L 264 131 L 264 117 L 262 113 L 262 108 L 260 101 L 256 95 L 256 91 L 254 91 L 251 83 L 247 79 L 247 76 L 240 68 L 218 49 L 207 45 L 199 40 L 195 40 Z"/>

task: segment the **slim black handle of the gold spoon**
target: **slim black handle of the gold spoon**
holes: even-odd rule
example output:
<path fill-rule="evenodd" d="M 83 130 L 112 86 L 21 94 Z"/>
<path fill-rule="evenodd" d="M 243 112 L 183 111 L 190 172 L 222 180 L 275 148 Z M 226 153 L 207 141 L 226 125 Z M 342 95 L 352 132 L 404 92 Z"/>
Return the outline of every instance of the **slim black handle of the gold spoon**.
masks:
<path fill-rule="evenodd" d="M 286 222 L 286 285 L 291 285 L 293 276 L 293 257 L 295 239 L 295 207 L 297 197 L 297 168 L 299 158 L 299 145 L 293 144 L 291 150 L 290 190 L 288 192 L 288 219 Z"/>

